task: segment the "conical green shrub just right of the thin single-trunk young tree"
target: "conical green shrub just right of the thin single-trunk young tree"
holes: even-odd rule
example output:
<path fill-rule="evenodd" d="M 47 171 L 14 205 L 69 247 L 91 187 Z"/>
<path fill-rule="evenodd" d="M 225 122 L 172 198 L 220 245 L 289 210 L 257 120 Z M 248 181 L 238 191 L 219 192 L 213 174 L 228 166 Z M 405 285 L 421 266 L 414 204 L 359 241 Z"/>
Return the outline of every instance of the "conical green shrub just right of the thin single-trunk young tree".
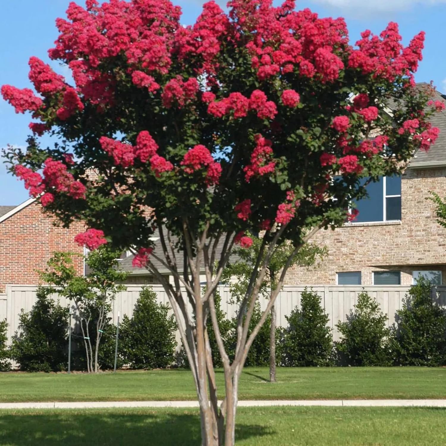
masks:
<path fill-rule="evenodd" d="M 301 295 L 301 309 L 296 307 L 289 317 L 283 335 L 283 364 L 287 367 L 330 365 L 333 349 L 329 318 L 321 306 L 321 298 L 313 290 Z"/>

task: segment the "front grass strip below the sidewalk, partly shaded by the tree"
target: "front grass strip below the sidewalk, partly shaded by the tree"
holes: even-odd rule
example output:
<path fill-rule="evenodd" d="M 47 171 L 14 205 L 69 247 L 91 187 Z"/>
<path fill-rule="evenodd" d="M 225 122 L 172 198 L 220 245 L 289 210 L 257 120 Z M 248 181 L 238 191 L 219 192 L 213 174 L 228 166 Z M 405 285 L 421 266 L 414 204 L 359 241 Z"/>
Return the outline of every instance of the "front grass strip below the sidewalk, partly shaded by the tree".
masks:
<path fill-rule="evenodd" d="M 240 408 L 238 446 L 444 445 L 445 409 Z M 0 411 L 2 446 L 196 446 L 192 409 Z"/>

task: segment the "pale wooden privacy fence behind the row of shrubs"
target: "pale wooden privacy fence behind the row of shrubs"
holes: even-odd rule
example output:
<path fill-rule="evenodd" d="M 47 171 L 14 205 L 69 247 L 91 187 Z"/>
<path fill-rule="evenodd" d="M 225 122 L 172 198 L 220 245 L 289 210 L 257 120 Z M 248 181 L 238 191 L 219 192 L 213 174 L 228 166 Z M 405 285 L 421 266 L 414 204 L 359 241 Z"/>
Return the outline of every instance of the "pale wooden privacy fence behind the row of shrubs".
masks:
<path fill-rule="evenodd" d="M 388 315 L 388 325 L 395 322 L 395 312 L 402 306 L 403 299 L 410 287 L 401 285 L 332 285 L 312 287 L 314 291 L 321 297 L 321 303 L 326 313 L 330 317 L 329 325 L 333 329 L 333 339 L 339 340 L 339 332 L 336 329 L 336 323 L 345 321 L 346 314 L 350 310 L 354 310 L 358 294 L 364 289 L 380 304 L 381 310 Z M 36 301 L 37 287 L 31 285 L 8 285 L 6 293 L 0 294 L 0 320 L 6 318 L 8 322 L 8 339 L 19 329 L 19 314 L 21 309 L 25 311 L 31 310 Z M 161 285 L 152 285 L 153 291 L 157 293 L 158 300 L 163 303 L 169 303 L 164 289 Z M 289 316 L 291 311 L 300 306 L 301 293 L 305 289 L 304 286 L 284 286 L 283 290 L 277 297 L 277 323 L 280 326 L 287 326 L 288 322 L 285 316 Z M 129 317 L 133 314 L 136 300 L 139 297 L 141 286 L 128 285 L 127 290 L 118 293 L 113 302 L 111 316 L 116 324 L 118 312 L 121 317 L 127 314 Z M 229 287 L 220 286 L 219 293 L 221 296 L 221 307 L 226 312 L 228 318 L 235 316 L 236 305 L 231 302 Z M 57 298 L 57 297 L 55 297 Z M 446 286 L 439 286 L 433 289 L 433 298 L 438 305 L 446 307 Z M 186 299 L 187 302 L 187 299 Z M 268 300 L 260 297 L 260 306 L 264 309 Z M 60 299 L 62 306 L 72 306 L 70 301 L 65 298 Z M 187 302 L 188 310 L 191 313 L 189 302 Z M 177 334 L 179 341 L 179 336 Z"/>

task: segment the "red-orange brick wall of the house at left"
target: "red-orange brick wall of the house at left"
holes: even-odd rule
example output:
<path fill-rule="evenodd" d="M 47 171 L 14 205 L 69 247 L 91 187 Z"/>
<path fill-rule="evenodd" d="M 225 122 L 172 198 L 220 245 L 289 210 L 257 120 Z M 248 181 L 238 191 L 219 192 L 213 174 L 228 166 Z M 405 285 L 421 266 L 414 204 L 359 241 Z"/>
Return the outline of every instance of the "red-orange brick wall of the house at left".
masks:
<path fill-rule="evenodd" d="M 54 227 L 43 215 L 41 206 L 32 203 L 0 223 L 0 293 L 6 285 L 36 285 L 36 269 L 44 269 L 55 251 L 83 253 L 74 236 L 83 232 L 82 223 L 70 229 Z M 82 258 L 75 259 L 78 273 L 83 273 Z"/>

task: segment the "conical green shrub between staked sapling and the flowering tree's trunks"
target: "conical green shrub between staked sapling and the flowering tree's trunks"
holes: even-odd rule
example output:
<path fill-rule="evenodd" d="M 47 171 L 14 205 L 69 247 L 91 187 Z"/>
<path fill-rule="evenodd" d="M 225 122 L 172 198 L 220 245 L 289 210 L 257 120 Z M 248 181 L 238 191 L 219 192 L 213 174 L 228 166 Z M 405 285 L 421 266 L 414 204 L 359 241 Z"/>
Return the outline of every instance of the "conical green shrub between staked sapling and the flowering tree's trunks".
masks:
<path fill-rule="evenodd" d="M 157 294 L 144 288 L 132 318 L 124 316 L 120 345 L 131 368 L 165 368 L 175 360 L 177 323 L 168 315 L 169 305 L 157 302 Z"/>

